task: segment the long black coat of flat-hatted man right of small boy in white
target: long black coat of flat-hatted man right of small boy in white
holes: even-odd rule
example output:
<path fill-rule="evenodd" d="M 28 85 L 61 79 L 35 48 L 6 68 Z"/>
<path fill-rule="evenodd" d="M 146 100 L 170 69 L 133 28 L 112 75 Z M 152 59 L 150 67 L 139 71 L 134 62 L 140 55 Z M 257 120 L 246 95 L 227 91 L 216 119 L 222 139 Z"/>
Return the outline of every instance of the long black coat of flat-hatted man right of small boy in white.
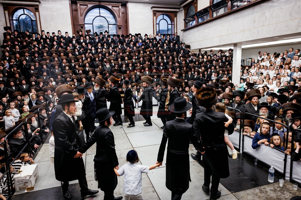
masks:
<path fill-rule="evenodd" d="M 158 152 L 158 162 L 163 161 L 166 142 L 166 187 L 175 194 L 183 194 L 189 188 L 189 140 L 196 142 L 191 130 L 192 125 L 184 119 L 176 118 L 167 121 L 163 130 L 163 137 Z"/>

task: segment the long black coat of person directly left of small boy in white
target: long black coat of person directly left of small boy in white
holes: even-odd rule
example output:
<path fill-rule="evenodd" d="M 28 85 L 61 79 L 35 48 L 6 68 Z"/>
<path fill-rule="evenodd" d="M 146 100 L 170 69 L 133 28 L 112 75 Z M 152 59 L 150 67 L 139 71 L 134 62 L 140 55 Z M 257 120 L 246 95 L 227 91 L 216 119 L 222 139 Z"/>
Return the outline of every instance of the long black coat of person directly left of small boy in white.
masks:
<path fill-rule="evenodd" d="M 85 153 L 96 142 L 96 155 L 94 157 L 95 181 L 102 191 L 114 190 L 117 186 L 117 176 L 114 167 L 118 166 L 115 151 L 114 135 L 107 126 L 98 126 L 86 144 L 79 149 Z"/>

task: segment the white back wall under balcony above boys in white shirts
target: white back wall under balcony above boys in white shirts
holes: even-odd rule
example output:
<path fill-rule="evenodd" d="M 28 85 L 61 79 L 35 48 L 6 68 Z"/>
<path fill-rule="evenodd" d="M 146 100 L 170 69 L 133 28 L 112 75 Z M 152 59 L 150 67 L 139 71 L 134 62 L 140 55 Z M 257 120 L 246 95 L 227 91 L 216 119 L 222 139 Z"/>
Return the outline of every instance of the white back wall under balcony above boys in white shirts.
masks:
<path fill-rule="evenodd" d="M 283 53 L 286 50 L 288 51 L 290 47 L 294 48 L 293 52 L 295 52 L 296 49 L 301 49 L 300 44 L 286 44 L 286 45 L 278 45 L 278 46 L 263 46 L 263 47 L 257 47 L 252 49 L 242 49 L 241 59 L 255 58 L 256 61 L 259 51 L 262 52 L 262 55 L 263 52 L 267 52 L 270 54 L 273 54 L 274 52 Z"/>

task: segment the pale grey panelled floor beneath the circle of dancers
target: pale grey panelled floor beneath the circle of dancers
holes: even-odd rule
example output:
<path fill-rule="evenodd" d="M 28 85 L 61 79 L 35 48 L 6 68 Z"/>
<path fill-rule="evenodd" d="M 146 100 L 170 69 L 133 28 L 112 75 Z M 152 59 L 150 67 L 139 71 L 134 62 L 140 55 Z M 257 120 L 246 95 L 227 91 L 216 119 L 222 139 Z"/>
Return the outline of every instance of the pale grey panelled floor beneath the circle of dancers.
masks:
<path fill-rule="evenodd" d="M 154 107 L 157 110 L 157 107 Z M 136 113 L 139 110 L 136 109 Z M 123 117 L 123 116 L 122 116 Z M 141 121 L 135 122 L 134 128 L 127 128 L 128 123 L 123 123 L 123 126 L 111 126 L 111 130 L 115 138 L 115 148 L 116 154 L 119 160 L 119 166 L 126 164 L 126 154 L 129 150 L 135 149 L 138 152 L 140 164 L 151 166 L 157 161 L 157 154 L 162 139 L 162 129 L 160 127 L 163 125 L 161 120 L 157 118 L 156 115 L 151 117 L 153 126 L 144 127 L 144 120 L 139 116 L 136 119 Z M 143 120 L 143 121 L 142 121 Z M 98 125 L 98 124 L 97 124 Z M 167 146 L 167 145 L 166 145 Z M 95 155 L 96 144 L 93 145 L 84 155 L 83 159 L 86 166 L 86 177 L 88 181 L 89 188 L 92 190 L 97 189 L 97 182 L 94 180 L 94 162 L 93 158 Z M 195 149 L 190 145 L 189 154 L 195 153 Z M 239 154 L 239 157 L 242 157 Z M 233 160 L 231 163 L 235 162 L 245 162 Z M 61 183 L 55 179 L 54 176 L 54 166 L 50 162 L 49 158 L 49 146 L 44 144 L 39 154 L 35 158 L 36 164 L 38 164 L 39 178 L 36 182 L 35 189 L 24 193 L 24 191 L 16 192 L 12 199 L 64 199 L 61 193 Z M 165 162 L 166 162 L 166 151 L 163 160 L 163 165 L 160 168 L 153 169 L 149 171 L 148 174 L 142 175 L 142 194 L 144 199 L 152 200 L 169 200 L 171 197 L 171 192 L 165 187 Z M 234 164 L 235 165 L 235 164 Z M 232 170 L 230 168 L 230 170 Z M 255 169 L 262 170 L 262 169 Z M 209 195 L 204 193 L 201 189 L 203 184 L 203 168 L 202 166 L 194 161 L 190 157 L 190 174 L 191 183 L 189 185 L 188 191 L 183 194 L 183 200 L 206 200 L 209 199 Z M 267 176 L 264 177 L 267 179 Z M 227 182 L 227 180 L 229 180 Z M 231 181 L 230 181 L 231 180 Z M 293 190 L 293 184 L 288 181 L 284 182 L 284 187 L 279 187 L 279 183 L 275 182 L 272 184 L 262 183 L 260 187 L 251 188 L 248 190 L 242 190 L 239 192 L 231 193 L 226 188 L 228 185 L 232 184 L 235 179 L 223 179 L 224 185 L 219 185 L 219 190 L 222 193 L 221 200 L 249 200 L 249 199 L 279 199 L 286 200 L 293 196 L 301 196 L 301 190 Z M 241 181 L 241 180 L 239 180 Z M 232 183 L 231 183 L 232 182 Z M 260 182 L 260 181 L 259 181 Z M 261 181 L 264 182 L 264 181 Z M 249 184 L 246 180 L 245 184 Z M 225 186 L 225 187 L 224 187 Z M 229 188 L 229 187 L 228 187 Z M 231 190 L 232 191 L 232 190 Z M 79 185 L 77 181 L 70 182 L 70 193 L 73 199 L 81 199 L 79 192 Z M 118 185 L 114 191 L 115 196 L 123 196 L 123 177 L 118 177 Z M 103 199 L 104 194 L 102 191 L 96 196 L 89 197 L 87 199 Z"/>

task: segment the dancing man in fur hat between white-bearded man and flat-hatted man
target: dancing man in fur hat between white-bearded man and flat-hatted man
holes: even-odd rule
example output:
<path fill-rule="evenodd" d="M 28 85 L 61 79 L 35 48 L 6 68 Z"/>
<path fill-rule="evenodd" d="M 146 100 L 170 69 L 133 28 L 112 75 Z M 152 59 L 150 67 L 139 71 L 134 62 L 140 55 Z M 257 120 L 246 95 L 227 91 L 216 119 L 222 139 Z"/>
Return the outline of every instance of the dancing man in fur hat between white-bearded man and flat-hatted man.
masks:
<path fill-rule="evenodd" d="M 110 81 L 111 81 L 111 89 L 109 92 L 109 100 L 110 100 L 110 111 L 115 111 L 114 115 L 112 116 L 115 124 L 113 126 L 122 126 L 122 119 L 121 119 L 121 104 L 123 104 L 123 101 L 121 99 L 121 95 L 119 93 L 119 90 L 116 86 L 116 84 L 119 83 L 119 79 L 116 78 L 115 76 L 110 76 Z"/>

